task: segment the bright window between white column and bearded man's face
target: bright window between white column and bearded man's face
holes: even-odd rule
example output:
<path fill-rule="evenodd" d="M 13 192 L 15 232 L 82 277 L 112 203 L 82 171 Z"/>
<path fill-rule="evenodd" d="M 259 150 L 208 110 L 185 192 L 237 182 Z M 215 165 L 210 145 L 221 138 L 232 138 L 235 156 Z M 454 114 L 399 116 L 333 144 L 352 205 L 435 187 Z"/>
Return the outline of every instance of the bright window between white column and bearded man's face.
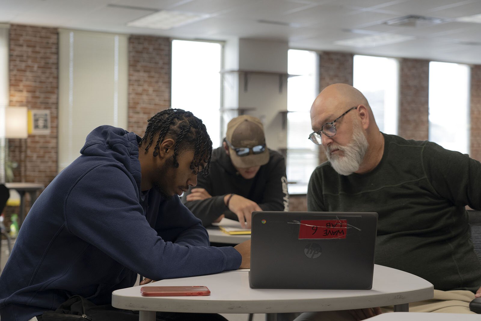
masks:
<path fill-rule="evenodd" d="M 309 111 L 318 94 L 317 53 L 288 51 L 287 82 L 287 178 L 291 194 L 307 193 L 307 184 L 319 163 L 318 147 L 308 140 L 311 129 Z"/>

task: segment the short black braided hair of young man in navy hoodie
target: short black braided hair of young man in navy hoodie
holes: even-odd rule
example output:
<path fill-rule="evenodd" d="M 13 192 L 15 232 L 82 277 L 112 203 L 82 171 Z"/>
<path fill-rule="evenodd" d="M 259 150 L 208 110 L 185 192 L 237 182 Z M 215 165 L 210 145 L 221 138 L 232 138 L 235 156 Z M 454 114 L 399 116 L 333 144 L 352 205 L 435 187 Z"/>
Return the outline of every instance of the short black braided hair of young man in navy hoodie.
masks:
<path fill-rule="evenodd" d="M 179 166 L 177 162 L 179 150 L 181 148 L 192 148 L 194 150 L 194 159 L 190 163 L 190 169 L 197 174 L 201 162 L 205 162 L 207 165 L 203 170 L 203 176 L 205 177 L 209 174 L 212 141 L 202 120 L 191 112 L 182 109 L 165 109 L 148 120 L 144 137 L 139 142 L 139 146 L 146 143 L 145 153 L 149 151 L 153 144 L 153 139 L 157 135 L 157 141 L 152 153 L 153 156 L 159 154 L 159 144 L 165 138 L 172 138 L 175 141 L 174 167 Z"/>

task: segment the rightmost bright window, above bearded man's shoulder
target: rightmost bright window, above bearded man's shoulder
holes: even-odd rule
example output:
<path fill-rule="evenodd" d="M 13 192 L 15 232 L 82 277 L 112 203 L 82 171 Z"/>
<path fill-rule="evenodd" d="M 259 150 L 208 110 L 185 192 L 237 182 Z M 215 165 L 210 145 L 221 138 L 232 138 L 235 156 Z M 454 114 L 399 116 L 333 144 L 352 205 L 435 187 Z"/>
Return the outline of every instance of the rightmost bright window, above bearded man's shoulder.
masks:
<path fill-rule="evenodd" d="M 429 63 L 429 140 L 469 153 L 469 66 Z"/>

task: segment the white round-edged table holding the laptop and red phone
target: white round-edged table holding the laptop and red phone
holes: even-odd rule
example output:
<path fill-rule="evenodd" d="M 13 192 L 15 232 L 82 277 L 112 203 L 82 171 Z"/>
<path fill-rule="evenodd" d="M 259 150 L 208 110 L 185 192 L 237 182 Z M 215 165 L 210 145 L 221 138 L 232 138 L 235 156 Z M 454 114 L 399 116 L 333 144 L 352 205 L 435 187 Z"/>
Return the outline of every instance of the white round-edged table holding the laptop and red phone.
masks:
<path fill-rule="evenodd" d="M 152 311 L 200 313 L 272 313 L 331 311 L 394 305 L 406 310 L 408 303 L 433 297 L 430 282 L 407 272 L 380 265 L 374 267 L 371 290 L 251 289 L 247 270 L 190 278 L 170 279 L 150 285 L 205 285 L 209 296 L 141 296 L 140 287 L 116 290 L 115 308 L 140 310 L 140 321 L 155 318 Z M 280 315 L 282 317 L 282 315 Z"/>

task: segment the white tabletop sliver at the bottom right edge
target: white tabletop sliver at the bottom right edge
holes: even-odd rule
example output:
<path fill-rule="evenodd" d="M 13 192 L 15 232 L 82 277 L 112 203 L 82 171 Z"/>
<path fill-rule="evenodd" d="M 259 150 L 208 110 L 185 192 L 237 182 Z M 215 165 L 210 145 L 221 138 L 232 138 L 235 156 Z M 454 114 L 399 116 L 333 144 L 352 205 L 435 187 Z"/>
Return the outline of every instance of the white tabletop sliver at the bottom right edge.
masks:
<path fill-rule="evenodd" d="M 479 314 L 466 313 L 421 313 L 421 312 L 396 312 L 383 313 L 366 319 L 368 321 L 474 321 L 481 320 Z"/>

